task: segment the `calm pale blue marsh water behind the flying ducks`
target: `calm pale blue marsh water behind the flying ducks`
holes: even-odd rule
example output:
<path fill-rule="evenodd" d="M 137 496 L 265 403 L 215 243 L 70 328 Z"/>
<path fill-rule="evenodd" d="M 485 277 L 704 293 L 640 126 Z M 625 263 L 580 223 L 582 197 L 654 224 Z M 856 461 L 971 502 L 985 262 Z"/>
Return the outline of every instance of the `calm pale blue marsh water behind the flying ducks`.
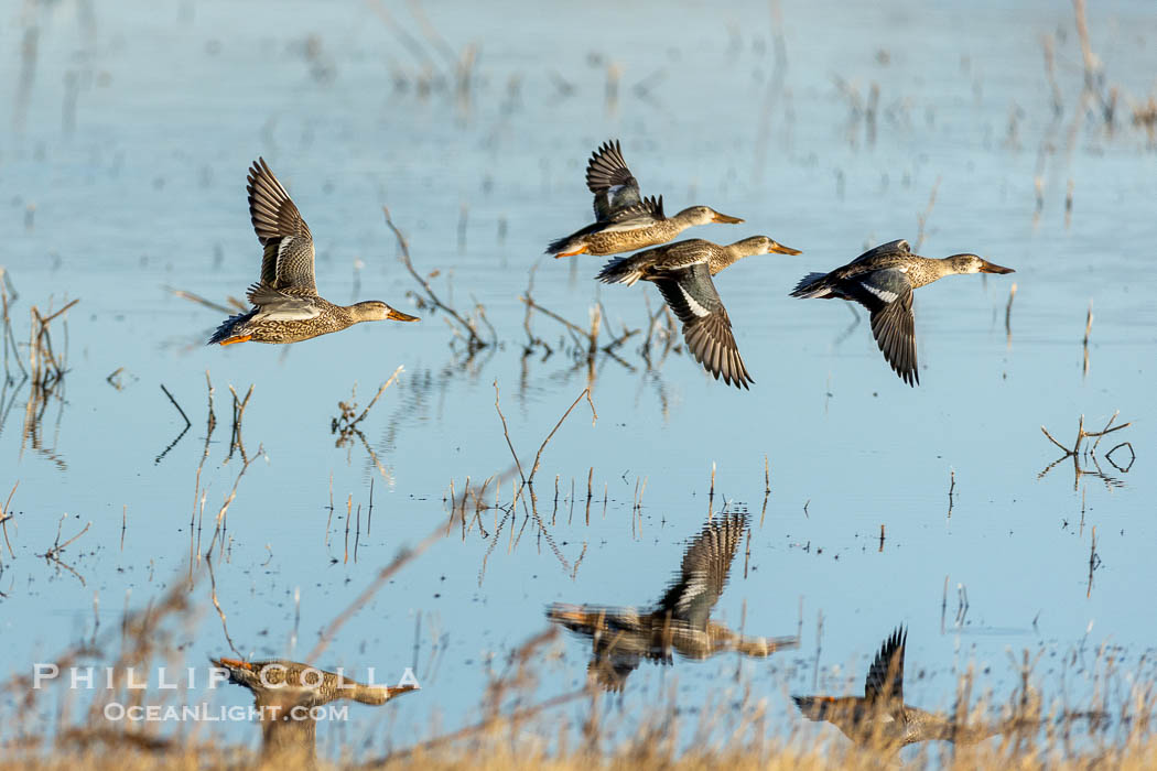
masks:
<path fill-rule="evenodd" d="M 715 616 L 756 635 L 802 630 L 801 646 L 766 660 L 643 666 L 607 702 L 626 726 L 672 683 L 690 709 L 750 685 L 788 734 L 799 719 L 787 695 L 860 688 L 899 623 L 915 704 L 950 705 L 970 663 L 978 687 L 1003 700 L 1019 677 L 1008 652 L 1023 648 L 1047 652 L 1034 672 L 1046 696 L 1082 703 L 1100 646 L 1135 667 L 1155 633 L 1137 587 L 1157 579 L 1157 155 L 1132 106 L 1157 88 L 1157 16 L 1144 2 L 1089 10 L 1092 49 L 1119 92 L 1108 128 L 1078 110 L 1071 6 L 1005 5 L 782 2 L 779 21 L 757 2 L 423 6 L 455 55 L 477 46 L 465 96 L 405 3 L 10 5 L 0 28 L 0 104 L 10 105 L 0 266 L 19 291 L 16 340 L 27 340 L 31 305 L 80 299 L 66 329 L 53 323 L 68 372 L 36 446 L 24 430 L 28 384 L 17 376 L 0 405 L 0 502 L 19 482 L 14 556 L 0 557 L 10 673 L 51 660 L 97 621 L 115 628 L 126 605 L 182 580 L 198 489 L 215 517 L 242 465 L 229 457 L 228 386 L 244 395 L 253 385 L 243 437 L 261 457 L 229 507 L 219 600 L 241 653 L 301 658 L 400 548 L 447 521 L 451 480 L 460 492 L 467 475 L 477 483 L 513 465 L 495 385 L 529 467 L 589 381 L 597 421 L 580 403 L 543 453 L 545 529 L 523 528 L 521 513 L 500 528 L 501 512 L 482 512 L 393 577 L 330 645 L 322 665 L 356 675 L 374 666 L 378 680 L 412 666 L 422 684 L 388 716 L 352 710 L 323 732 L 331 742 L 405 746 L 477 719 L 489 676 L 547 625 L 551 603 L 654 602 L 685 541 L 723 506 L 749 511 L 752 529 Z M 22 54 L 29 35 L 35 57 Z M 1042 36 L 1055 49 L 1059 114 Z M 591 281 L 600 258 L 541 255 L 589 221 L 582 173 L 607 138 L 621 138 L 643 192 L 664 194 L 669 212 L 706 203 L 746 220 L 688 236 L 766 233 L 803 250 L 746 260 L 716 281 L 757 381 L 750 393 L 678 353 L 649 369 L 638 353 L 646 329 L 589 377 L 566 329 L 536 314 L 533 333 L 554 353 L 523 355 L 519 297 L 536 266 L 535 301 L 583 327 L 602 303 L 604 335 L 644 327 L 644 297 L 657 307 L 650 287 Z M 204 346 L 221 314 L 164 288 L 223 302 L 256 279 L 244 172 L 258 155 L 309 222 L 322 294 L 381 298 L 421 324 L 361 325 L 292 347 Z M 485 306 L 496 346 L 469 357 L 443 314 L 415 310 L 418 286 L 383 205 L 418 270 L 439 272 L 435 291 L 463 311 Z M 921 233 L 921 253 L 977 252 L 1017 272 L 918 292 L 922 385 L 912 390 L 882 361 L 862 311 L 856 320 L 842 304 L 787 294 L 810 270 Z M 364 444 L 334 446 L 338 402 L 356 384 L 364 407 L 399 365 L 359 424 Z M 206 370 L 218 420 L 207 445 Z M 119 388 L 106 380 L 117 371 Z M 192 421 L 171 447 L 184 421 L 161 384 Z M 1041 424 L 1070 442 L 1082 414 L 1099 429 L 1115 410 L 1133 425 L 1099 450 L 1114 483 L 1074 484 L 1071 461 L 1040 476 L 1060 454 Z M 1125 440 L 1136 451 L 1128 473 L 1103 459 Z M 510 485 L 507 475 L 504 506 Z M 348 555 L 347 501 L 362 510 Z M 75 572 L 39 556 L 58 528 L 64 542 L 89 524 L 61 554 Z M 208 583 L 194 594 L 204 613 L 175 659 L 200 667 L 228 644 Z M 589 643 L 563 636 L 551 651 L 543 697 L 582 684 Z M 207 731 L 256 736 L 246 724 Z"/>

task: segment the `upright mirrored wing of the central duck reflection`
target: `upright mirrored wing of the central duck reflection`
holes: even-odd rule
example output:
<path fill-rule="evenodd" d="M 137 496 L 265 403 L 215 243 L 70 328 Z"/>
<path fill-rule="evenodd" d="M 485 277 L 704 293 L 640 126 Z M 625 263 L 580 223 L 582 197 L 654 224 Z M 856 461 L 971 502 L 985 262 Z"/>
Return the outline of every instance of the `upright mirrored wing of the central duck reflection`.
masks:
<path fill-rule="evenodd" d="M 658 601 L 659 609 L 692 629 L 706 629 L 746 528 L 744 514 L 724 514 L 707 522 L 684 551 L 679 577 Z"/>

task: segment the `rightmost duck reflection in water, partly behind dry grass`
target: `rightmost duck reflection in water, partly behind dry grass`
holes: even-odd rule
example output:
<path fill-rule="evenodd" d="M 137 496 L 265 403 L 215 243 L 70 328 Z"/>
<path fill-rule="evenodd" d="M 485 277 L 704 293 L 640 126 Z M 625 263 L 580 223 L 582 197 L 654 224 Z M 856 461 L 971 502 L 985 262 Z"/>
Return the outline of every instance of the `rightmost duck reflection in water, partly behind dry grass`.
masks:
<path fill-rule="evenodd" d="M 904 703 L 904 647 L 907 631 L 900 627 L 884 640 L 868 669 L 864 695 L 793 696 L 809 720 L 826 720 L 853 742 L 885 754 L 923 741 L 975 744 L 1016 727 L 1015 720 L 967 726 L 953 718 Z"/>

